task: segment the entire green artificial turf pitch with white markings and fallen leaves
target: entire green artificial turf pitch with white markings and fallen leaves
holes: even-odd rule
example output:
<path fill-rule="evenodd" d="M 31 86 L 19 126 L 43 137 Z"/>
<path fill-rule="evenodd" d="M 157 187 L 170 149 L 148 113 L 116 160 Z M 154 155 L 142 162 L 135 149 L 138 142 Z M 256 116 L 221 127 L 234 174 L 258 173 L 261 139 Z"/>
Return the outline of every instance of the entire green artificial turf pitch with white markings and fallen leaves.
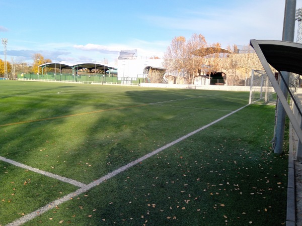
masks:
<path fill-rule="evenodd" d="M 285 224 L 274 106 L 248 92 L 1 81 L 0 94 L 0 225 Z"/>

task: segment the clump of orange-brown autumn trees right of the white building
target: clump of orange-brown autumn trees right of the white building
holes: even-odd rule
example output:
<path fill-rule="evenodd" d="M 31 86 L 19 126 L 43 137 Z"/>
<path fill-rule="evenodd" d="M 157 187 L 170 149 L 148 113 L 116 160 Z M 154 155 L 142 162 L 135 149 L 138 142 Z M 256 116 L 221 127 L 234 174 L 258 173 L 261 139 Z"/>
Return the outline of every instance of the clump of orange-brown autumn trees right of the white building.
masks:
<path fill-rule="evenodd" d="M 175 75 L 176 83 L 180 81 L 180 73 L 193 84 L 198 71 L 204 74 L 223 72 L 226 85 L 247 84 L 252 69 L 261 70 L 262 65 L 253 51 L 247 45 L 243 49 L 226 47 L 221 53 L 220 43 L 207 44 L 204 36 L 193 34 L 186 41 L 182 36 L 175 37 L 164 55 L 164 67 Z"/>

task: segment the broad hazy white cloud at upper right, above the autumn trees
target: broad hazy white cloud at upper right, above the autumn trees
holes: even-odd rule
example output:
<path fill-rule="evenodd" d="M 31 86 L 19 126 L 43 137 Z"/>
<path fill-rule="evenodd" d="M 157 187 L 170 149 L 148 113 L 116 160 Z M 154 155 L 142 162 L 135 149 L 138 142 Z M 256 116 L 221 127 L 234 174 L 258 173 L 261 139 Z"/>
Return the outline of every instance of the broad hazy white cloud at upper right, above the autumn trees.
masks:
<path fill-rule="evenodd" d="M 240 1 L 230 8 L 204 8 L 200 4 L 199 8 L 184 9 L 175 16 L 147 16 L 145 19 L 167 32 L 179 31 L 186 38 L 200 33 L 207 42 L 219 42 L 222 47 L 246 45 L 250 39 L 281 39 L 284 3 L 283 0 Z"/>

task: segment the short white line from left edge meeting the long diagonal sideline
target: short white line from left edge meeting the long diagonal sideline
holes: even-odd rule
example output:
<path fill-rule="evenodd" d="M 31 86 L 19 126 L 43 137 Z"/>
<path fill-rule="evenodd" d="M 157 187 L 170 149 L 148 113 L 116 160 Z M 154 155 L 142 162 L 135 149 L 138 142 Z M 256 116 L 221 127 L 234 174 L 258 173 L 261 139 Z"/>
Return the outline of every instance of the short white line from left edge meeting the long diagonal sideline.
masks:
<path fill-rule="evenodd" d="M 39 169 L 37 169 L 37 168 L 33 168 L 33 167 L 31 167 L 31 166 L 28 166 L 28 165 L 25 165 L 25 164 L 16 162 L 16 161 L 11 160 L 11 159 L 7 159 L 7 158 L 2 157 L 2 156 L 0 156 L 0 160 L 2 160 L 2 161 L 4 161 L 4 162 L 7 162 L 7 163 L 10 163 L 10 164 L 12 164 L 12 165 L 15 165 L 15 166 L 18 166 L 18 167 L 21 167 L 21 168 L 24 168 L 24 169 L 33 171 L 33 172 L 35 172 L 35 173 L 39 173 L 39 174 L 42 174 L 42 175 L 44 175 L 44 176 L 52 177 L 52 178 L 55 178 L 55 179 L 57 179 L 57 180 L 60 180 L 60 181 L 63 181 L 63 182 L 66 182 L 66 183 L 75 185 L 75 186 L 77 186 L 77 187 L 85 187 L 85 186 L 87 186 L 86 184 L 81 183 L 81 182 L 79 182 L 79 181 L 72 180 L 72 179 L 69 179 L 69 178 L 67 178 L 67 177 L 62 177 L 62 176 L 59 176 L 59 175 L 57 175 L 57 174 L 49 173 L 49 172 L 46 172 L 46 171 L 43 171 L 43 170 L 39 170 Z"/>

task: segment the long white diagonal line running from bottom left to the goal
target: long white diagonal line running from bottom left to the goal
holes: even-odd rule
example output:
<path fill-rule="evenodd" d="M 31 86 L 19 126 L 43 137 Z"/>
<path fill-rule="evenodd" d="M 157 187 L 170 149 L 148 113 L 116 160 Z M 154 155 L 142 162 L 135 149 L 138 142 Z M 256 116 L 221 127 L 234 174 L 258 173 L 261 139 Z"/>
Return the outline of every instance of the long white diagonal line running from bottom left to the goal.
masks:
<path fill-rule="evenodd" d="M 55 206 L 57 206 L 57 205 L 59 205 L 59 204 L 62 204 L 63 202 L 66 202 L 66 201 L 70 200 L 71 198 L 73 198 L 73 197 L 75 197 L 75 196 L 77 196 L 77 195 L 80 195 L 80 194 L 82 194 L 82 193 L 88 191 L 89 189 L 91 189 L 91 188 L 93 188 L 93 187 L 99 185 L 100 183 L 104 182 L 105 180 L 108 180 L 108 179 L 110 179 L 111 177 L 114 177 L 115 175 L 117 175 L 117 174 L 119 174 L 119 173 L 121 173 L 121 172 L 127 170 L 128 168 L 130 168 L 130 167 L 136 165 L 137 163 L 140 163 L 140 162 L 142 162 L 143 160 L 146 160 L 147 158 L 149 158 L 149 157 L 151 157 L 151 156 L 154 156 L 154 155 L 156 155 L 157 153 L 159 153 L 159 152 L 161 152 L 161 151 L 163 151 L 163 150 L 165 150 L 165 149 L 167 149 L 167 148 L 169 148 L 169 147 L 171 147 L 171 146 L 177 144 L 178 142 L 183 141 L 184 139 L 186 139 L 186 138 L 188 138 L 188 137 L 190 137 L 190 136 L 192 136 L 192 135 L 194 135 L 194 134 L 200 132 L 201 130 L 204 130 L 204 129 L 208 128 L 209 126 L 212 126 L 213 124 L 218 123 L 219 121 L 221 121 L 221 120 L 223 120 L 223 119 L 225 119 L 225 118 L 227 118 L 227 117 L 233 115 L 234 113 L 236 113 L 237 111 L 239 111 L 239 110 L 245 108 L 245 107 L 248 106 L 248 105 L 249 105 L 249 104 L 247 104 L 247 105 L 245 105 L 245 106 L 243 106 L 243 107 L 240 107 L 240 108 L 238 108 L 237 110 L 232 111 L 232 112 L 229 113 L 228 115 L 225 115 L 225 116 L 221 117 L 220 119 L 217 119 L 217 120 L 215 120 L 215 121 L 209 123 L 208 125 L 203 126 L 203 127 L 199 128 L 199 129 L 197 129 L 197 130 L 195 130 L 195 131 L 193 131 L 193 132 L 191 132 L 191 133 L 189 133 L 189 134 L 187 134 L 187 135 L 185 135 L 185 136 L 183 136 L 183 137 L 181 137 L 181 138 L 179 138 L 179 139 L 177 139 L 177 140 L 175 140 L 175 141 L 173 141 L 173 142 L 171 142 L 171 143 L 169 143 L 169 144 L 167 144 L 167 145 L 165 145 L 165 146 L 163 146 L 163 147 L 161 147 L 161 148 L 159 148 L 159 149 L 157 149 L 157 150 L 155 150 L 155 151 L 153 151 L 153 152 L 150 152 L 150 153 L 144 155 L 143 157 L 141 157 L 141 158 L 139 158 L 139 159 L 137 159 L 137 160 L 134 160 L 134 161 L 128 163 L 127 165 L 124 165 L 124 166 L 122 166 L 122 167 L 120 167 L 120 168 L 118 168 L 118 169 L 112 171 L 111 173 L 108 173 L 107 175 L 105 175 L 105 176 L 99 178 L 98 180 L 93 181 L 93 182 L 91 182 L 91 183 L 89 183 L 89 184 L 87 184 L 87 185 L 81 187 L 80 189 L 78 189 L 78 190 L 75 191 L 75 192 L 71 192 L 71 193 L 69 193 L 69 194 L 63 196 L 63 197 L 60 198 L 60 199 L 57 199 L 57 200 L 52 201 L 52 202 L 49 202 L 49 203 L 46 204 L 45 206 L 43 206 L 43 207 L 41 207 L 41 208 L 39 208 L 39 209 L 37 209 L 37 210 L 31 212 L 31 213 L 29 213 L 29 214 L 27 214 L 27 215 L 25 215 L 25 216 L 19 218 L 19 219 L 15 220 L 15 221 L 13 221 L 13 222 L 11 222 L 11 223 L 9 223 L 9 224 L 7 224 L 7 226 L 17 226 L 17 225 L 21 225 L 21 224 L 26 223 L 27 221 L 29 221 L 29 220 L 31 220 L 31 219 L 34 219 L 35 217 L 37 217 L 38 215 L 40 215 L 40 214 L 42 214 L 42 213 L 48 211 L 49 209 L 55 208 Z"/>

